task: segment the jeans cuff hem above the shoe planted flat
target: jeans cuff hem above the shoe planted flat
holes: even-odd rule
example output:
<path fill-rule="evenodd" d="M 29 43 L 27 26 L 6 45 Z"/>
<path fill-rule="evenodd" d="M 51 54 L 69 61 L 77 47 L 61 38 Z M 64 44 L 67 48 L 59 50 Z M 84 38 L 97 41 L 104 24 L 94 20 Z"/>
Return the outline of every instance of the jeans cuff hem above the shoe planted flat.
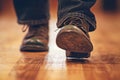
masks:
<path fill-rule="evenodd" d="M 49 20 L 48 19 L 43 19 L 43 20 L 18 20 L 19 24 L 27 24 L 27 25 L 39 25 L 39 24 L 48 24 Z"/>

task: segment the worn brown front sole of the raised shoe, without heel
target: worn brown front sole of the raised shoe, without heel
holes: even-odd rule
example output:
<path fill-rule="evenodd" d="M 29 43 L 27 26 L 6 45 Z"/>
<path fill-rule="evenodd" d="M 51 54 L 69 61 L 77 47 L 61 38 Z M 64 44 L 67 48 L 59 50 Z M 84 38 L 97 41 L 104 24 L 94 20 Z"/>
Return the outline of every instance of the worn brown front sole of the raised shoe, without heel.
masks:
<path fill-rule="evenodd" d="M 56 38 L 58 47 L 79 53 L 88 53 L 93 50 L 92 43 L 82 30 L 61 30 Z"/>

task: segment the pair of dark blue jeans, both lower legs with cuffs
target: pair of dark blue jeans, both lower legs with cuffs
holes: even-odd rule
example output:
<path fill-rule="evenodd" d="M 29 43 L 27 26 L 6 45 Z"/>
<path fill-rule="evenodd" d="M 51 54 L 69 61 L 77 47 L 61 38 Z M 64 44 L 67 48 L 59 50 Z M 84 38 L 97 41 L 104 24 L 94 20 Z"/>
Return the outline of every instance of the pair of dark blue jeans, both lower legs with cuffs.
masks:
<path fill-rule="evenodd" d="M 96 28 L 96 20 L 90 8 L 96 0 L 58 0 L 57 26 L 64 26 L 69 18 L 83 18 L 89 24 L 89 31 Z M 49 21 L 49 0 L 14 0 L 19 24 L 37 25 Z"/>

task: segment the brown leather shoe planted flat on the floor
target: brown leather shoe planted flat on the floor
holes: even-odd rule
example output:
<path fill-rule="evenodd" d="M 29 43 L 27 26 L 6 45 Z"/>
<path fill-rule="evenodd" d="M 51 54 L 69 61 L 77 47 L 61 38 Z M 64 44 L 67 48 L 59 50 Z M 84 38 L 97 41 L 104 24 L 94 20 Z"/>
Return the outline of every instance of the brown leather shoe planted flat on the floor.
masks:
<path fill-rule="evenodd" d="M 21 51 L 48 51 L 48 25 L 28 26 L 29 30 L 23 39 Z"/>

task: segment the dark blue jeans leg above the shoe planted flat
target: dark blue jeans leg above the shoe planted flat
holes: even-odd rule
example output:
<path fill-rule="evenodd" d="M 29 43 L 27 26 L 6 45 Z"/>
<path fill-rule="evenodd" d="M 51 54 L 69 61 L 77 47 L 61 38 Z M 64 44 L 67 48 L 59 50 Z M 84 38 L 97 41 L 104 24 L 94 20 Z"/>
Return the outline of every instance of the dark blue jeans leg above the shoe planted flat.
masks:
<path fill-rule="evenodd" d="M 46 24 L 49 20 L 49 0 L 14 0 L 19 24 Z"/>

